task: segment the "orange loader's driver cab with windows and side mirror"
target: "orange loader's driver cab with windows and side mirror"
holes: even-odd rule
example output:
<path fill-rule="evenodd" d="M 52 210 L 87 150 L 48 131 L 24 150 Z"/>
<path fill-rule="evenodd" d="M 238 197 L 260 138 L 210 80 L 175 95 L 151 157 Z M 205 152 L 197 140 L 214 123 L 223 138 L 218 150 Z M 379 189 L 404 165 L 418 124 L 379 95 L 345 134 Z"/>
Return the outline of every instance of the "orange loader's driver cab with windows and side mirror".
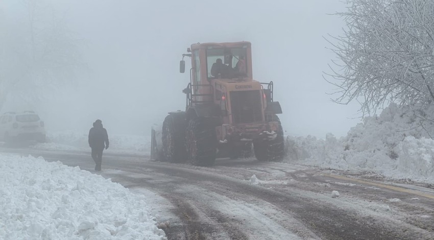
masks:
<path fill-rule="evenodd" d="M 215 103 L 213 96 L 218 85 L 253 82 L 250 42 L 197 43 L 192 44 L 187 52 L 182 55 L 183 59 L 186 56 L 191 58 L 190 83 L 183 90 L 187 97 L 186 109 L 192 105 Z M 218 74 L 213 69 L 217 62 L 221 70 Z M 182 60 L 181 73 L 184 69 Z"/>

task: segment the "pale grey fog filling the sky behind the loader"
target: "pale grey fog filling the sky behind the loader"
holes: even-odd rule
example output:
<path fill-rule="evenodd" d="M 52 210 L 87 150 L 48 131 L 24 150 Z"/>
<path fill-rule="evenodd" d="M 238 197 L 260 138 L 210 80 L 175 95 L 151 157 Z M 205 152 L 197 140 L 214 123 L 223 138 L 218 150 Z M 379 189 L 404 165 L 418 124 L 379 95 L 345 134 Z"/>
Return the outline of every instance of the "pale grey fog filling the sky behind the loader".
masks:
<path fill-rule="evenodd" d="M 342 136 L 360 121 L 356 104 L 330 101 L 333 86 L 322 77 L 335 58 L 323 36 L 344 27 L 328 15 L 344 10 L 340 1 L 35 2 L 74 35 L 84 66 L 36 100 L 9 96 L 2 112 L 37 110 L 49 131 L 85 132 L 99 118 L 109 135 L 149 135 L 167 112 L 185 109 L 189 75 L 179 73 L 179 60 L 197 42 L 252 42 L 253 77 L 274 82 L 287 135 Z M 24 3 L 2 0 L 2 18 L 25 21 Z"/>

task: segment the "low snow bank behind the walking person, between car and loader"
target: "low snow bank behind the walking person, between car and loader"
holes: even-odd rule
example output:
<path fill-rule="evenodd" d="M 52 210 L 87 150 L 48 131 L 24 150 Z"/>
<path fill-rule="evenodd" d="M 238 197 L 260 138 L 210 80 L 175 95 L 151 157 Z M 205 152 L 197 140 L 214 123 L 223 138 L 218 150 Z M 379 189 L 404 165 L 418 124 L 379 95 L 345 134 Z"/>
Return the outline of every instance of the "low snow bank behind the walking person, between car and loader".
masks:
<path fill-rule="evenodd" d="M 33 148 L 40 150 L 89 150 L 88 133 L 77 131 L 49 132 L 47 142 Z M 149 154 L 151 137 L 138 135 L 109 135 L 108 151 Z"/>

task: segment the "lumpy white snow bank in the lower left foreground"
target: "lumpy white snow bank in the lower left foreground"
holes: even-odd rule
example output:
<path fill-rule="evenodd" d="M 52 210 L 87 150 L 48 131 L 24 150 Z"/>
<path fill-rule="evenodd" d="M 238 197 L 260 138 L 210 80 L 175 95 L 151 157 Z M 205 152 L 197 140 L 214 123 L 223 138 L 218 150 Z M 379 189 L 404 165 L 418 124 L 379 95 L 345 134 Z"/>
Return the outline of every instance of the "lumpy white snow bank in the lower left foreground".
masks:
<path fill-rule="evenodd" d="M 1 239 L 165 239 L 144 196 L 79 167 L 0 154 Z"/>

